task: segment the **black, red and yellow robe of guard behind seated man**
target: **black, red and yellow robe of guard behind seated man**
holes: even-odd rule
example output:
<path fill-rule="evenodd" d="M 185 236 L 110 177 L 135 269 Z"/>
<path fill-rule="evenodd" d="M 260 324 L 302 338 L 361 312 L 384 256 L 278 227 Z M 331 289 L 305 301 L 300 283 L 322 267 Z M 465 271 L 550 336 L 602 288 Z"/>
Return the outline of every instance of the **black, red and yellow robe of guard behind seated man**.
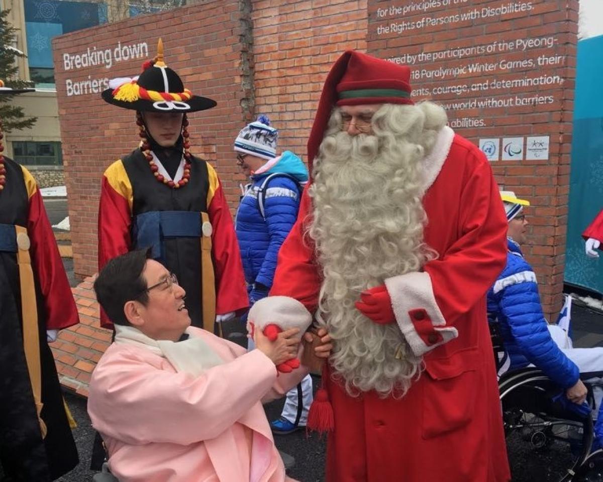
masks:
<path fill-rule="evenodd" d="M 163 216 L 198 213 L 198 226 L 185 216 L 184 236 L 164 236 Z M 142 239 L 141 219 L 161 217 L 158 243 Z M 180 216 L 172 216 L 176 219 Z M 209 224 L 211 226 L 210 229 Z M 199 230 L 200 236 L 186 232 Z M 209 236 L 208 236 L 209 235 Z M 98 267 L 137 248 L 153 248 L 153 257 L 178 277 L 186 290 L 193 326 L 213 330 L 215 314 L 236 312 L 248 305 L 241 255 L 224 191 L 213 167 L 191 159 L 191 178 L 174 189 L 157 182 L 140 149 L 113 162 L 103 176 L 98 213 Z M 213 278 L 213 280 L 212 280 Z M 101 326 L 111 323 L 101 312 Z"/>

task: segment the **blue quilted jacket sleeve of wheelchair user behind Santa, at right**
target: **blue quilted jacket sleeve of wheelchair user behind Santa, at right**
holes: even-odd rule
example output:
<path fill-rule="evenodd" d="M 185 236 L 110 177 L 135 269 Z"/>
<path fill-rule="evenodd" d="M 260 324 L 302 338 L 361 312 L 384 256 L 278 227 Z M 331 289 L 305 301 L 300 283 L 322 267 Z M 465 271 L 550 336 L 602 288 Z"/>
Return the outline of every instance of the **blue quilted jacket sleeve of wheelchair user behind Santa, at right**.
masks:
<path fill-rule="evenodd" d="M 513 338 L 528 361 L 561 387 L 575 385 L 580 376 L 578 367 L 551 338 L 542 313 L 537 283 L 520 280 L 509 284 L 498 295 L 499 309 L 507 318 Z"/>

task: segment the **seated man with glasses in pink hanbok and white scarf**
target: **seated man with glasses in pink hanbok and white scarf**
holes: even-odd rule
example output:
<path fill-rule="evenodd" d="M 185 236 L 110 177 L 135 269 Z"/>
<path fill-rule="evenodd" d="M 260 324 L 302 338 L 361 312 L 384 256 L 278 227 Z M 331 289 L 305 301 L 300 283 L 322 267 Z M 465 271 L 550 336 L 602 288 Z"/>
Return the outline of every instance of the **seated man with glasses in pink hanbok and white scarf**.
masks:
<path fill-rule="evenodd" d="M 115 342 L 96 365 L 88 413 L 120 482 L 291 481 L 262 402 L 283 396 L 308 373 L 277 376 L 299 355 L 297 329 L 271 342 L 255 330 L 247 350 L 191 327 L 185 291 L 165 267 L 132 251 L 95 281 L 115 324 Z M 295 300 L 270 317 L 309 317 Z M 324 333 L 321 333 L 324 335 Z M 330 353 L 328 336 L 315 355 Z"/>

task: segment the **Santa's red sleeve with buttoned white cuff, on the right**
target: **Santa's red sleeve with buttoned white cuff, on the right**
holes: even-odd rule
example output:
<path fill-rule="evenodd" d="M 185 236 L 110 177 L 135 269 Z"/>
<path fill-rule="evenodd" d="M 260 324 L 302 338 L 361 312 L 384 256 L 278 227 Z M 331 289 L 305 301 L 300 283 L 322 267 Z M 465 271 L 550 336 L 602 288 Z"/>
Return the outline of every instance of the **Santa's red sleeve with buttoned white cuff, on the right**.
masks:
<path fill-rule="evenodd" d="M 458 239 L 423 271 L 385 280 L 397 324 L 417 356 L 459 336 L 457 322 L 507 262 L 507 217 L 485 159 L 459 193 L 459 203 Z"/>

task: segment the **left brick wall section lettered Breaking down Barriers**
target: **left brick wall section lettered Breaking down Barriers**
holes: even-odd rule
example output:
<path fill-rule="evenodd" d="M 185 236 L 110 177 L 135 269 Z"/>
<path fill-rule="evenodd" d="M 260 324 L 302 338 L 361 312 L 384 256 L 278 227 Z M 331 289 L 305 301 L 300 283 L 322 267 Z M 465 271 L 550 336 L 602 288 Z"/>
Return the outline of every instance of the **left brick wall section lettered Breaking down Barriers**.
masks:
<path fill-rule="evenodd" d="M 248 38 L 246 30 L 250 25 L 245 4 L 238 0 L 208 1 L 77 31 L 53 40 L 74 266 L 78 277 L 96 271 L 96 215 L 104 169 L 134 149 L 139 138 L 134 111 L 106 104 L 98 92 L 75 95 L 76 92 L 102 90 L 97 79 L 139 74 L 147 56 L 118 61 L 115 48 L 134 46 L 139 53 L 144 53 L 140 44 L 146 42 L 151 58 L 156 54 L 157 31 L 161 31 L 168 66 L 185 79 L 185 85 L 192 92 L 218 101 L 218 106 L 210 111 L 191 114 L 191 151 L 209 159 L 220 172 L 226 173 L 227 191 L 235 193 L 235 183 L 228 175 L 232 141 L 250 118 L 245 97 L 250 94 L 250 79 L 241 69 L 248 50 L 245 38 Z M 99 61 L 98 57 L 92 59 L 96 65 L 84 67 L 78 62 L 78 68 L 75 60 L 74 65 L 65 64 L 65 54 L 83 54 L 87 49 L 93 53 L 110 49 L 111 68 L 107 69 L 109 63 Z M 87 81 L 90 83 L 86 84 Z M 230 194 L 229 200 L 235 201 L 234 194 Z"/>

